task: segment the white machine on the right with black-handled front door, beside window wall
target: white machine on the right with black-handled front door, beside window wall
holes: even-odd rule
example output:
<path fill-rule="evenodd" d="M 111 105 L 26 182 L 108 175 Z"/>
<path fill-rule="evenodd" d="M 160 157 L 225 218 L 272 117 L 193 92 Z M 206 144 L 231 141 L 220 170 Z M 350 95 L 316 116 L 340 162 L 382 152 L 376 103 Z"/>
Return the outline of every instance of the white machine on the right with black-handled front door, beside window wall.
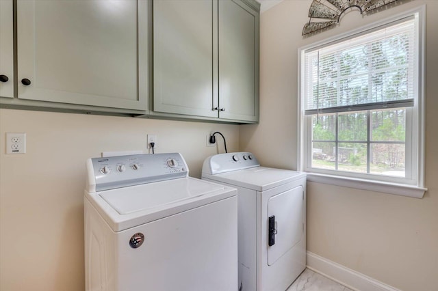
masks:
<path fill-rule="evenodd" d="M 235 152 L 205 159 L 202 178 L 237 188 L 240 290 L 286 290 L 306 268 L 306 175 Z"/>

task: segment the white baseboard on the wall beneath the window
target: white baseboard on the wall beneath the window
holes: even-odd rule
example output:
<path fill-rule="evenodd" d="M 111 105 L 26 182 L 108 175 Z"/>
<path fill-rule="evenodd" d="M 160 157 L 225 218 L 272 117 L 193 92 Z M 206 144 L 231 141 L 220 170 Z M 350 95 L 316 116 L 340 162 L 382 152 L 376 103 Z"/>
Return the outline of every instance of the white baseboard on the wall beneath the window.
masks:
<path fill-rule="evenodd" d="M 307 268 L 355 291 L 401 291 L 307 251 Z"/>

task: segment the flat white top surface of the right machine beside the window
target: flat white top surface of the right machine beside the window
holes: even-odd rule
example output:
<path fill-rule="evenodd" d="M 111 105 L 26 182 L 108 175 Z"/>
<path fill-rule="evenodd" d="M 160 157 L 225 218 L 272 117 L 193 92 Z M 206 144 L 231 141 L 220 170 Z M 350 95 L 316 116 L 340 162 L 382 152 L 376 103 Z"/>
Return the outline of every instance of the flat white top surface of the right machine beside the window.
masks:
<path fill-rule="evenodd" d="M 305 176 L 305 173 L 299 171 L 289 171 L 285 169 L 268 167 L 253 167 L 216 175 L 203 174 L 203 178 L 216 180 L 218 182 L 224 182 L 235 186 L 241 186 L 256 191 L 266 191 L 276 186 L 304 178 Z"/>

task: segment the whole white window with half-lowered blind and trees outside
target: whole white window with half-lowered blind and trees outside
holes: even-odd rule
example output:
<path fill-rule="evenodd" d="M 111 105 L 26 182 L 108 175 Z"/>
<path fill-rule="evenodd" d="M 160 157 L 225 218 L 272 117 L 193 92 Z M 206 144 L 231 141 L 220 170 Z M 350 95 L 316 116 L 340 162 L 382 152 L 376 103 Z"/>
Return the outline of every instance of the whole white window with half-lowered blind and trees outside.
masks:
<path fill-rule="evenodd" d="M 300 49 L 309 180 L 423 196 L 424 9 Z"/>

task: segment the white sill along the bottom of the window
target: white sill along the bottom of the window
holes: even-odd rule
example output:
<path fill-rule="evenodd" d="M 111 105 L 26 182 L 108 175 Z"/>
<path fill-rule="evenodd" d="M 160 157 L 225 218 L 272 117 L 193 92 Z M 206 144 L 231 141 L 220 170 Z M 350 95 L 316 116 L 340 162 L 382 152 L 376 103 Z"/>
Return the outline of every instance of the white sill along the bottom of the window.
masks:
<path fill-rule="evenodd" d="M 396 184 L 389 182 L 370 181 L 358 178 L 346 178 L 341 176 L 331 176 L 324 174 L 315 174 L 307 172 L 307 181 L 318 182 L 322 184 L 331 184 L 336 186 L 344 186 L 348 188 L 375 191 L 394 195 L 402 195 L 414 198 L 422 198 L 427 188 Z"/>

